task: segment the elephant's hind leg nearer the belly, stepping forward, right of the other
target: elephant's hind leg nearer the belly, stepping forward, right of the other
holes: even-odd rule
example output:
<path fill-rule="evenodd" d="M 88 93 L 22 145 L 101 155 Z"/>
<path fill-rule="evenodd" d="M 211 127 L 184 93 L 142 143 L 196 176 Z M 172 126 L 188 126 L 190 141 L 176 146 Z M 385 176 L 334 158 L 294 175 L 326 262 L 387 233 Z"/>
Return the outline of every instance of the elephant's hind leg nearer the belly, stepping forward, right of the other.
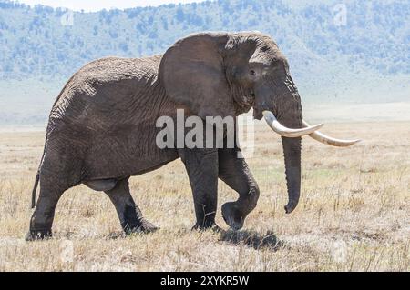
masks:
<path fill-rule="evenodd" d="M 158 227 L 149 223 L 135 204 L 129 192 L 128 178 L 119 180 L 113 189 L 105 192 L 116 207 L 124 232 L 149 233 L 157 230 Z"/>

